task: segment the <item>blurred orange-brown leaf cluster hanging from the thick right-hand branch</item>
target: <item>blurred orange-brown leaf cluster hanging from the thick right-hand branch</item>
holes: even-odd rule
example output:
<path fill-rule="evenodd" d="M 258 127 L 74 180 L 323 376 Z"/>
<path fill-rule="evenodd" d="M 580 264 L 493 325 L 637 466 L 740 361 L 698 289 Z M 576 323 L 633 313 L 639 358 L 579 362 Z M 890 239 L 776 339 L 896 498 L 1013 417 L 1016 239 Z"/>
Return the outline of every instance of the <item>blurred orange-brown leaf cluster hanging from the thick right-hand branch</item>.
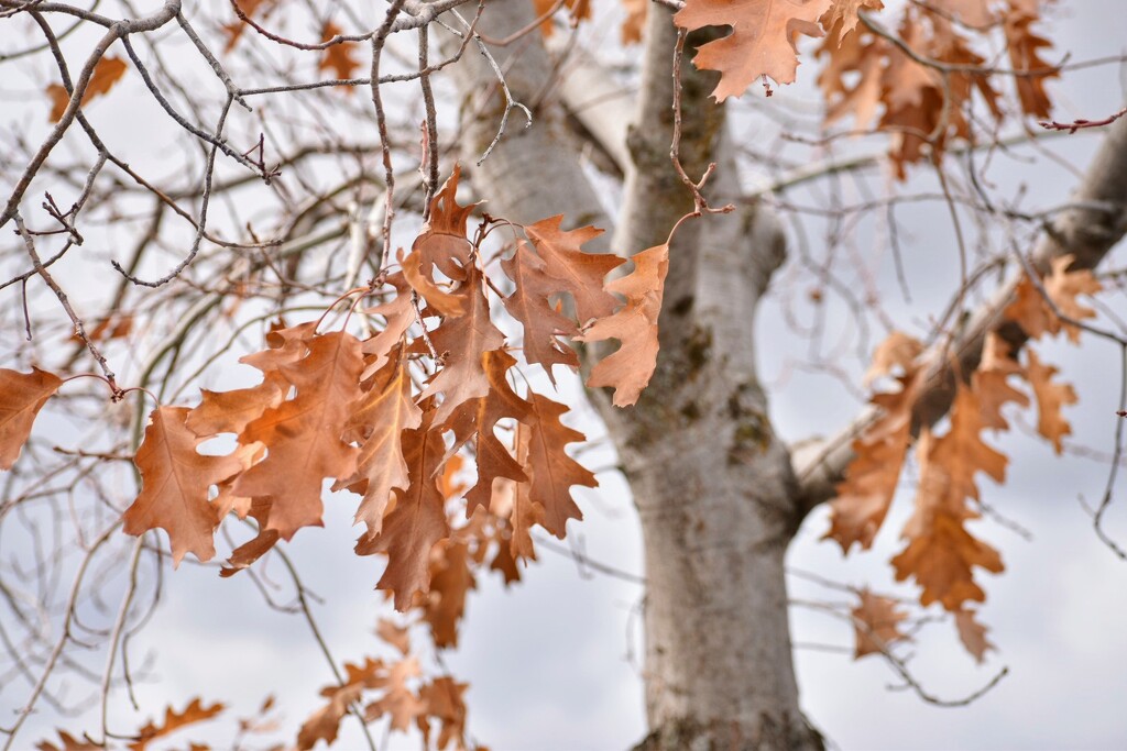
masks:
<path fill-rule="evenodd" d="M 1037 339 L 1064 331 L 1075 342 L 1079 329 L 1073 322 L 1095 315 L 1076 297 L 1094 294 L 1100 285 L 1089 270 L 1070 270 L 1071 262 L 1071 257 L 1058 258 L 1044 280 L 1027 278 L 1018 286 L 1004 316 L 1028 337 Z M 862 548 L 872 545 L 896 492 L 913 442 L 913 409 L 931 365 L 921 361 L 921 351 L 919 342 L 896 332 L 873 358 L 870 375 L 898 369 L 900 387 L 872 397 L 880 408 L 879 418 L 854 440 L 857 456 L 831 504 L 826 537 L 837 540 L 846 553 L 854 543 Z M 1062 408 L 1075 403 L 1075 392 L 1067 384 L 1054 382 L 1056 368 L 1044 365 L 1029 347 L 1024 356 L 1024 364 L 1019 363 L 1005 341 L 988 334 L 978 367 L 957 383 L 947 431 L 935 435 L 929 428 L 920 430 L 915 440 L 920 471 L 915 510 L 900 534 L 907 544 L 891 561 L 898 581 L 912 579 L 920 585 L 923 606 L 939 602 L 955 615 L 964 644 L 979 660 L 990 644 L 985 628 L 975 620 L 976 611 L 968 608 L 970 602 L 985 600 L 974 572 L 982 569 L 997 573 L 1003 566 L 997 551 L 975 537 L 966 522 L 980 516 L 975 508 L 980 502 L 976 475 L 983 473 L 997 483 L 1005 479 L 1008 459 L 983 441 L 984 431 L 1009 429 L 1003 415 L 1006 404 L 1031 403 L 1010 383 L 1010 377 L 1029 385 L 1038 409 L 1038 432 L 1051 441 L 1056 453 L 1061 453 L 1063 438 L 1072 431 Z"/>

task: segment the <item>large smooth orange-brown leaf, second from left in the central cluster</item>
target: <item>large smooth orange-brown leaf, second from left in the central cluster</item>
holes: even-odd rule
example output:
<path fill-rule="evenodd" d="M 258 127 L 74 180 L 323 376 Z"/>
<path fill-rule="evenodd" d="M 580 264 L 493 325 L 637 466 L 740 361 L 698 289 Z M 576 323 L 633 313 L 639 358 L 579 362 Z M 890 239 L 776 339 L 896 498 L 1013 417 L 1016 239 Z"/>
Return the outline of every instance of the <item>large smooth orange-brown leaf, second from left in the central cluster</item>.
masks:
<path fill-rule="evenodd" d="M 362 392 L 360 341 L 336 331 L 304 340 L 309 355 L 282 366 L 296 387 L 294 399 L 250 422 L 240 442 L 261 441 L 266 458 L 239 475 L 233 491 L 272 499 L 264 528 L 283 539 L 305 526 L 321 526 L 321 483 L 356 472 L 357 450 L 341 440 L 349 409 Z"/>

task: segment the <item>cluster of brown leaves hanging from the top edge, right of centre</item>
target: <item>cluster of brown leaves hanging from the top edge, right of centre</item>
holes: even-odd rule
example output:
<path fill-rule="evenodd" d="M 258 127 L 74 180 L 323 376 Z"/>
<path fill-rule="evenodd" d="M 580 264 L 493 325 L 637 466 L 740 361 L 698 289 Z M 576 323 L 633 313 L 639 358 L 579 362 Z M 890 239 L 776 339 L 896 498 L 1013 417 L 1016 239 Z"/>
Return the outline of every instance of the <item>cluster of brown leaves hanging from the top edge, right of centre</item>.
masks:
<path fill-rule="evenodd" d="M 693 30 L 730 26 L 731 34 L 701 45 L 693 62 L 720 72 L 718 101 L 739 96 L 756 80 L 795 81 L 800 36 L 825 37 L 817 55 L 827 57 L 818 75 L 826 124 L 846 115 L 855 128 L 891 134 L 896 173 L 925 158 L 938 163 L 951 138 L 974 140 L 969 117 L 974 95 L 995 123 L 1004 110 L 994 69 L 974 51 L 975 37 L 1000 37 L 1009 53 L 1021 111 L 1048 116 L 1045 82 L 1057 71 L 1041 56 L 1051 46 L 1039 36 L 1041 0 L 932 0 L 907 3 L 895 34 L 864 11 L 882 0 L 686 0 L 674 21 Z M 879 117 L 878 117 L 879 113 Z"/>

